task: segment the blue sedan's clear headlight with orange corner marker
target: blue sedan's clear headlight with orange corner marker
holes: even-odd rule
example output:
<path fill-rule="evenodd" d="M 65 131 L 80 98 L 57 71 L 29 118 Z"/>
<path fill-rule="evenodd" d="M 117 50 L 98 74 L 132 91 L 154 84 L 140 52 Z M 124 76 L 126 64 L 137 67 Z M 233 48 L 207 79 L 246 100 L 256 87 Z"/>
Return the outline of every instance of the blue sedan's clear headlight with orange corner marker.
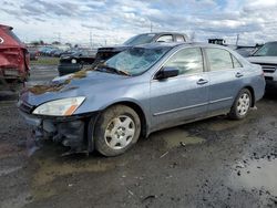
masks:
<path fill-rule="evenodd" d="M 38 106 L 33 114 L 37 115 L 52 115 L 52 116 L 69 116 L 72 115 L 76 108 L 84 102 L 84 96 L 61 98 L 50 101 Z"/>

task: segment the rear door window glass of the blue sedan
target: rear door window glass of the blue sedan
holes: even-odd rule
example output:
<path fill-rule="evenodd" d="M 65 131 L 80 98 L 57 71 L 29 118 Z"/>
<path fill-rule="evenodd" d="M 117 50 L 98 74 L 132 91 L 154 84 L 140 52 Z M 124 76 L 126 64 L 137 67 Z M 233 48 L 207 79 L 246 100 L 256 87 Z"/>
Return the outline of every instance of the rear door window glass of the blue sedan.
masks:
<path fill-rule="evenodd" d="M 211 71 L 233 69 L 230 53 L 224 49 L 206 49 Z"/>

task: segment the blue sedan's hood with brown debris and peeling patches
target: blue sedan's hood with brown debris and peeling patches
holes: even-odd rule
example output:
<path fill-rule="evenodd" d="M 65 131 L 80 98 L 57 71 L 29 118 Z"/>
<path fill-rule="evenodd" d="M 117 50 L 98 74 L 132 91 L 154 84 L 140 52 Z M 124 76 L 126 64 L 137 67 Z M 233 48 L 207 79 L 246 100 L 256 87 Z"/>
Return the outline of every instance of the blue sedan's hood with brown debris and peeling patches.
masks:
<path fill-rule="evenodd" d="M 80 71 L 52 80 L 48 84 L 34 85 L 21 93 L 21 101 L 32 106 L 65 97 L 92 96 L 109 87 L 122 85 L 122 80 L 129 80 L 112 73 L 96 71 Z"/>

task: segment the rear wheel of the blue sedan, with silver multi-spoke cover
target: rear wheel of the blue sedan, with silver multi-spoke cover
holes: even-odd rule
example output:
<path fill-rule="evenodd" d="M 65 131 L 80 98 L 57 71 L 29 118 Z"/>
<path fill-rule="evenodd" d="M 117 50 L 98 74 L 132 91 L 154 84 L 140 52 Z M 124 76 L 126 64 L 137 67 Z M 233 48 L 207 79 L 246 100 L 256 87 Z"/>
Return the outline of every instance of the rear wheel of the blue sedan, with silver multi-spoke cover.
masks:
<path fill-rule="evenodd" d="M 229 112 L 229 117 L 232 119 L 243 119 L 247 116 L 252 106 L 252 93 L 247 89 L 239 91 L 232 108 Z"/>

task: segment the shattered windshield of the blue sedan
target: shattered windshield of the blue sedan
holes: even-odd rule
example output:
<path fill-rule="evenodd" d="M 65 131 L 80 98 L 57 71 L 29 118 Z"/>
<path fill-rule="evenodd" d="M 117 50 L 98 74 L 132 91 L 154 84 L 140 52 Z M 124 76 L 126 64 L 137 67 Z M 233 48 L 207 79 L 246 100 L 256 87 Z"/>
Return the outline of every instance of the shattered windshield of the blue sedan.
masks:
<path fill-rule="evenodd" d="M 103 65 L 135 76 L 153 66 L 170 49 L 132 48 L 112 56 Z"/>

